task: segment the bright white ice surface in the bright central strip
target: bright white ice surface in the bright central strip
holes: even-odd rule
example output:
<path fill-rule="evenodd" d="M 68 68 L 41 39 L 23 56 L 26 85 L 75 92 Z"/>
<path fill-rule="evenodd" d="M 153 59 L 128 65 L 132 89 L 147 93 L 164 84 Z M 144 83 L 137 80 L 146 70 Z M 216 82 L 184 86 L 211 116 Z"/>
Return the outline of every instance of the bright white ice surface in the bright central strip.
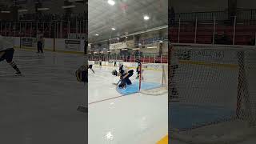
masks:
<path fill-rule="evenodd" d="M 119 80 L 111 74 L 114 69 L 117 67 L 94 65 L 95 74 L 88 72 L 88 142 L 155 144 L 168 133 L 167 94 L 119 94 L 113 84 Z M 159 77 L 157 71 L 149 75 L 145 82 Z M 134 83 L 138 82 L 135 77 L 130 78 Z"/>

